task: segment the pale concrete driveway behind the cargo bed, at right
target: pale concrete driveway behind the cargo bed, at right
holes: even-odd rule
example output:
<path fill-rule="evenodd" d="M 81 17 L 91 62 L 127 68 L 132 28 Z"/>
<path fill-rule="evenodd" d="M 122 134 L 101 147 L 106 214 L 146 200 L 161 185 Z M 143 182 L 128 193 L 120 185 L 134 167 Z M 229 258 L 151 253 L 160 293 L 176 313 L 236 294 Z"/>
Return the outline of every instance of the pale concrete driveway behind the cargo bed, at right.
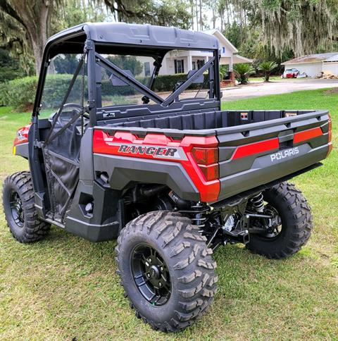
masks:
<path fill-rule="evenodd" d="M 274 80 L 268 83 L 251 82 L 249 85 L 223 88 L 222 101 L 234 101 L 267 94 L 287 94 L 299 90 L 325 89 L 327 87 L 338 87 L 338 80 L 296 79 Z"/>

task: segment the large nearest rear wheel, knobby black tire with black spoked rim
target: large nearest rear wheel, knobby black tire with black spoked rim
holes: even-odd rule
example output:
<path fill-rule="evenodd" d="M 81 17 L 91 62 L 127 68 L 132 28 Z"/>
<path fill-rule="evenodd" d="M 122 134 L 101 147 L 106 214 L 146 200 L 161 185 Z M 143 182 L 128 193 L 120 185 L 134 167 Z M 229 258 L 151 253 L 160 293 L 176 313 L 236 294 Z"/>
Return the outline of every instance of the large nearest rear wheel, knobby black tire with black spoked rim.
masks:
<path fill-rule="evenodd" d="M 213 301 L 218 278 L 212 250 L 180 213 L 139 216 L 121 231 L 116 251 L 125 297 L 155 330 L 186 328 Z"/>

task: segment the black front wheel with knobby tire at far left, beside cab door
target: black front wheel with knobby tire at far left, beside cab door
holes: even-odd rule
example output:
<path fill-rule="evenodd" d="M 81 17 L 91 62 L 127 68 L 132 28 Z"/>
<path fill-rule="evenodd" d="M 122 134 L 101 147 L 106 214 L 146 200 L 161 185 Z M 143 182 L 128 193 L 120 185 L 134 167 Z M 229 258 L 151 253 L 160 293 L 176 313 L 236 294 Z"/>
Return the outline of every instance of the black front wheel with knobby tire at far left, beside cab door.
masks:
<path fill-rule="evenodd" d="M 18 242 L 37 242 L 49 232 L 51 225 L 37 218 L 30 172 L 14 173 L 5 179 L 2 203 L 9 230 Z"/>

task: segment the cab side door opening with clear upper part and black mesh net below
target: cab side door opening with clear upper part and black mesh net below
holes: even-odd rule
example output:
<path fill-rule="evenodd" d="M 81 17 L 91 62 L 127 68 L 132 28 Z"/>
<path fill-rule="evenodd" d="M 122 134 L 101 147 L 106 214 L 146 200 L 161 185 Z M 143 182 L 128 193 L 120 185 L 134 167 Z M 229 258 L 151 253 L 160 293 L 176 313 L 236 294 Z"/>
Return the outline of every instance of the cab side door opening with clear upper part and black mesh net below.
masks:
<path fill-rule="evenodd" d="M 87 126 L 86 63 L 80 54 L 51 59 L 44 82 L 39 119 L 48 119 L 42 145 L 49 192 L 47 216 L 63 223 L 77 187 L 80 144 Z"/>

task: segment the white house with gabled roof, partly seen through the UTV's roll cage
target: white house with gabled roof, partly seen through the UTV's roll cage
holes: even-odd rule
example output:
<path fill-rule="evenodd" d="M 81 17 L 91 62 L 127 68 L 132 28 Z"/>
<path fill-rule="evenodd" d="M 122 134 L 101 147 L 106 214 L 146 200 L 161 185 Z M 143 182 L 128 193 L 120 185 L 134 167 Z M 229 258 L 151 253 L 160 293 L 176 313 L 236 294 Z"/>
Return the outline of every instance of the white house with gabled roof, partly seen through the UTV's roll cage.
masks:
<path fill-rule="evenodd" d="M 252 59 L 238 55 L 238 50 L 219 30 L 205 31 L 208 35 L 214 35 L 220 42 L 221 58 L 220 65 L 228 65 L 229 71 L 232 72 L 232 66 L 236 63 L 252 63 Z M 211 58 L 213 54 L 208 51 L 192 51 L 192 50 L 174 50 L 168 53 L 168 56 L 162 61 L 160 75 L 173 75 L 175 73 L 188 73 L 189 70 L 196 70 Z M 154 70 L 152 59 L 149 57 L 138 57 L 143 63 L 143 71 L 141 75 L 151 75 Z"/>

